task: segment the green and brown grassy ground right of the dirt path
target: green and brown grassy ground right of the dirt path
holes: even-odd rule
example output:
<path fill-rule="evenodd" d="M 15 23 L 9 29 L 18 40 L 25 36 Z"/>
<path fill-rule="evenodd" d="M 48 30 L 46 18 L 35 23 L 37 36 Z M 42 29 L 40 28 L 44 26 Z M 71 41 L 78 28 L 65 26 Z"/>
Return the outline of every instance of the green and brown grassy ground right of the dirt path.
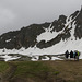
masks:
<path fill-rule="evenodd" d="M 79 80 L 82 80 L 82 60 L 17 61 L 13 63 L 17 66 L 13 78 L 37 78 L 40 80 L 59 79 L 61 82 L 62 80 L 66 82 L 78 82 Z"/>

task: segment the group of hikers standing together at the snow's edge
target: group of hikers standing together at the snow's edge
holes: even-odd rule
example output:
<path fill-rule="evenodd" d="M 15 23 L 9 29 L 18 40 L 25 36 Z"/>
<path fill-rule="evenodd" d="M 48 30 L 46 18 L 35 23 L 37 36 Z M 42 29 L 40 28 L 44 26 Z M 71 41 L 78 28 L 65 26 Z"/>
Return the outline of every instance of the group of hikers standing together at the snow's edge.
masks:
<path fill-rule="evenodd" d="M 80 56 L 80 52 L 78 50 L 74 50 L 74 51 L 66 51 L 65 52 L 65 57 L 66 59 L 70 58 L 70 59 L 74 59 L 74 60 L 78 60 L 79 61 L 79 56 Z"/>

